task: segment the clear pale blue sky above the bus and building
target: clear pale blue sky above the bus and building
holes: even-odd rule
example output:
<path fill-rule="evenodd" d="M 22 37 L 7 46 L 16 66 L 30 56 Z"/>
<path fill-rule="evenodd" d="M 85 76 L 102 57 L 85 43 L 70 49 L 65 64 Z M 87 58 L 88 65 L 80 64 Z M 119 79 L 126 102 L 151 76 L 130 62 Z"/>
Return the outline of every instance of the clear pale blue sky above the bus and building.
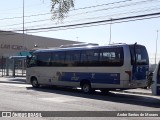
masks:
<path fill-rule="evenodd" d="M 75 0 L 74 8 L 63 21 L 52 20 L 50 10 L 51 0 L 24 0 L 24 27 L 28 30 L 25 33 L 100 45 L 107 45 L 110 40 L 111 43 L 137 42 L 146 46 L 150 63 L 155 61 L 157 40 L 157 61 L 160 59 L 160 17 L 72 29 L 29 30 L 158 13 L 160 0 Z M 1 1 L 0 15 L 0 30 L 22 30 L 23 0 Z"/>

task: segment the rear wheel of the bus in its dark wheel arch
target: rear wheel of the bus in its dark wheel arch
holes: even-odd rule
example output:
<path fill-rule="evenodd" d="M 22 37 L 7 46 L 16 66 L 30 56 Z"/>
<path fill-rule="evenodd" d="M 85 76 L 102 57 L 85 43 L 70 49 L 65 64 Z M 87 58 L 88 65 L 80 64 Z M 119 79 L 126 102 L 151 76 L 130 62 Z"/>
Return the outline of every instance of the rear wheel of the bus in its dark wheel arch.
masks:
<path fill-rule="evenodd" d="M 82 80 L 80 82 L 81 89 L 84 93 L 91 93 L 92 92 L 92 86 L 91 82 L 89 80 Z"/>

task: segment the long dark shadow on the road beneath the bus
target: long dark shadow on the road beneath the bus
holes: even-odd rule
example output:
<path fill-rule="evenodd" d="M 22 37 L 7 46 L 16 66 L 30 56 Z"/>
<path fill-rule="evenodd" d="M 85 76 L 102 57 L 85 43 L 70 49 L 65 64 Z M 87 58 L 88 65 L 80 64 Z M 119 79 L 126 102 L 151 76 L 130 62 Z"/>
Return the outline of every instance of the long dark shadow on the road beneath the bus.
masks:
<path fill-rule="evenodd" d="M 102 101 L 111 101 L 111 102 L 116 102 L 116 103 L 124 103 L 124 104 L 160 108 L 160 99 L 154 98 L 152 96 L 123 94 L 122 92 L 113 92 L 113 91 L 107 94 L 103 94 L 97 91 L 92 94 L 84 94 L 79 89 L 70 89 L 70 88 L 53 87 L 53 86 L 43 86 L 40 88 L 27 87 L 27 90 L 34 90 L 34 91 L 47 92 L 47 93 L 56 93 L 56 94 L 82 97 L 82 98 L 95 99 L 95 100 L 102 100 Z"/>

